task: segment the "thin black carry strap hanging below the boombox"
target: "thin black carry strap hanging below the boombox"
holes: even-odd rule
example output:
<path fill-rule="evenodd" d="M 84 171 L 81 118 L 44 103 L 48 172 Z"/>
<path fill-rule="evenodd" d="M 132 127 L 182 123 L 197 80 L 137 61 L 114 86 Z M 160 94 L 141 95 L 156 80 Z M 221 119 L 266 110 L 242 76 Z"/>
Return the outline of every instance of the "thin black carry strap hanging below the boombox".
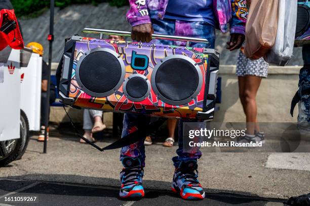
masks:
<path fill-rule="evenodd" d="M 145 139 L 145 137 L 148 134 L 150 134 L 152 131 L 159 128 L 166 121 L 166 119 L 160 118 L 158 121 L 150 123 L 147 127 L 138 128 L 138 130 L 134 131 L 133 133 L 130 133 L 127 136 L 107 145 L 106 147 L 101 148 L 100 146 L 98 146 L 94 142 L 91 142 L 90 140 L 88 140 L 87 138 L 83 137 L 83 135 L 80 134 L 78 129 L 76 129 L 76 127 L 74 126 L 74 124 L 73 124 L 70 116 L 68 115 L 64 105 L 63 105 L 63 109 L 65 110 L 65 112 L 66 112 L 66 114 L 70 120 L 70 123 L 75 130 L 75 134 L 78 135 L 81 139 L 83 139 L 84 141 L 86 141 L 87 143 L 89 143 L 90 145 L 92 145 L 93 147 L 95 147 L 96 149 L 98 149 L 100 151 L 121 148 L 124 146 L 128 146 L 130 144 L 133 144 L 133 143 L 140 141 L 142 139 Z"/>

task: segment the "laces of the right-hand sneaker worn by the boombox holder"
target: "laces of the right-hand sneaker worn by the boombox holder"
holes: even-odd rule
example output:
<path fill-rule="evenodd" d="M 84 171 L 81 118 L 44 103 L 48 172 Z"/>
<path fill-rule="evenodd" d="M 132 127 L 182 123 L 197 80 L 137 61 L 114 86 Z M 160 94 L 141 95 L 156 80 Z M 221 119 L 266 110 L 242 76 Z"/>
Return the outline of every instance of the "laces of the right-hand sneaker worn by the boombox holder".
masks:
<path fill-rule="evenodd" d="M 198 174 L 199 174 L 198 170 L 192 168 L 186 168 L 186 169 L 178 168 L 176 171 L 176 176 L 179 177 L 180 179 L 183 179 L 185 185 L 201 187 L 197 179 Z"/>

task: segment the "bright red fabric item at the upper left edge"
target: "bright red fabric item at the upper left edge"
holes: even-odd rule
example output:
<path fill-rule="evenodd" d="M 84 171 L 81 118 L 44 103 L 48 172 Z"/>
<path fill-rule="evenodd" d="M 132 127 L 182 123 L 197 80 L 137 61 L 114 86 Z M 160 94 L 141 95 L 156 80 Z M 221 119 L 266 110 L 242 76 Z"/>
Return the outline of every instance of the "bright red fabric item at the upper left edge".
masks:
<path fill-rule="evenodd" d="M 19 25 L 14 13 L 14 10 L 3 9 L 0 11 L 0 26 L 3 26 L 8 21 L 14 22 L 14 28 L 7 33 L 0 31 L 0 50 L 8 45 L 14 49 L 24 48 L 24 41 L 19 30 Z"/>

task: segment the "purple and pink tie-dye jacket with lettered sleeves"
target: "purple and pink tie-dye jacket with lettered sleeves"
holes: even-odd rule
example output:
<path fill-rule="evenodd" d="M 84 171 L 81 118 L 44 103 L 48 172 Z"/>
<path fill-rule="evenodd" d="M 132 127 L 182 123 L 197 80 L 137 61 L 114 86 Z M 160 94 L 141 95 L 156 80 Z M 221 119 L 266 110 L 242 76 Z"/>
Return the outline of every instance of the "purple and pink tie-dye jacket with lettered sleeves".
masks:
<path fill-rule="evenodd" d="M 132 26 L 151 23 L 150 19 L 163 19 L 169 0 L 129 0 L 127 20 Z M 195 0 L 193 0 L 195 1 Z M 177 7 L 177 5 L 176 5 Z M 247 20 L 246 0 L 213 0 L 217 28 L 222 32 L 245 34 Z"/>

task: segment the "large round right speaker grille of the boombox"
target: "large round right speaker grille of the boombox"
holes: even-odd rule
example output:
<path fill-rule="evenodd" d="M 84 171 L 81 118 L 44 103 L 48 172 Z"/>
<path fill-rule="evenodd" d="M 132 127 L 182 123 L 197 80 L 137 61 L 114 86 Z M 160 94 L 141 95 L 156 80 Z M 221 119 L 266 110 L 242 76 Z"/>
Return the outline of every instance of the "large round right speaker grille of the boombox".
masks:
<path fill-rule="evenodd" d="M 199 74 L 189 61 L 174 58 L 163 62 L 158 68 L 155 85 L 163 97 L 181 101 L 195 93 L 199 85 Z"/>

